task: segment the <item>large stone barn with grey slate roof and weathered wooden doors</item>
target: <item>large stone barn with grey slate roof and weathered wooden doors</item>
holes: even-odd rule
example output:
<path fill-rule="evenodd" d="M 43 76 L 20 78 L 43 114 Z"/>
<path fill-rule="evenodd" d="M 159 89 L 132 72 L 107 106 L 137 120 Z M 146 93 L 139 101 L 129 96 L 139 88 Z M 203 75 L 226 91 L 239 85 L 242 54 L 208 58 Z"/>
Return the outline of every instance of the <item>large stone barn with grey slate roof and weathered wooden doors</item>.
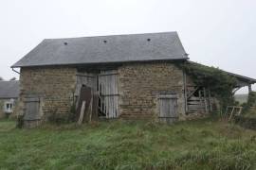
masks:
<path fill-rule="evenodd" d="M 188 59 L 176 32 L 46 39 L 12 65 L 20 114 L 29 125 L 52 115 L 173 122 L 209 112 L 210 92 L 177 66 Z"/>

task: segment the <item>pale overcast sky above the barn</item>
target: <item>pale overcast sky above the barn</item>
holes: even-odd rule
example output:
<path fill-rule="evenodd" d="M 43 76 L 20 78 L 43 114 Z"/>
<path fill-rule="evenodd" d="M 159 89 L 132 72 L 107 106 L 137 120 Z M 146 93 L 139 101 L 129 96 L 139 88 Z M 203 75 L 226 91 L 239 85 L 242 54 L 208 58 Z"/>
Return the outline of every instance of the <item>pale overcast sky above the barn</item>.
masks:
<path fill-rule="evenodd" d="M 46 38 L 163 31 L 193 61 L 256 78 L 255 0 L 0 0 L 0 76 Z"/>

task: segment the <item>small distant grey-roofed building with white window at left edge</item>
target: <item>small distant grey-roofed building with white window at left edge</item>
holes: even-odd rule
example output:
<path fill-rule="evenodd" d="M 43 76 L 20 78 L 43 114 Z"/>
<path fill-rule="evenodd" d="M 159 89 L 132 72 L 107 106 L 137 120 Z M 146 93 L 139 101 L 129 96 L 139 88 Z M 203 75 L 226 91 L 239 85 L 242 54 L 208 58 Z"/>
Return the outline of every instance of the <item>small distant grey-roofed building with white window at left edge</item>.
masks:
<path fill-rule="evenodd" d="M 13 115 L 19 96 L 19 81 L 0 80 L 0 118 Z"/>

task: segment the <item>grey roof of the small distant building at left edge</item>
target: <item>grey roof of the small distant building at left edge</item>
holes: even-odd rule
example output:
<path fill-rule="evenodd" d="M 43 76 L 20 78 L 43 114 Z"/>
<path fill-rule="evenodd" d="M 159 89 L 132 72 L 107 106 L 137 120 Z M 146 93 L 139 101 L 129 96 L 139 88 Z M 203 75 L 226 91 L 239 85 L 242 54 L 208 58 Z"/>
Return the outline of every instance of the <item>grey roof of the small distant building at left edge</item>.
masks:
<path fill-rule="evenodd" d="M 2 81 L 0 80 L 0 99 L 4 98 L 18 98 L 20 93 L 20 82 L 17 80 L 13 81 Z"/>

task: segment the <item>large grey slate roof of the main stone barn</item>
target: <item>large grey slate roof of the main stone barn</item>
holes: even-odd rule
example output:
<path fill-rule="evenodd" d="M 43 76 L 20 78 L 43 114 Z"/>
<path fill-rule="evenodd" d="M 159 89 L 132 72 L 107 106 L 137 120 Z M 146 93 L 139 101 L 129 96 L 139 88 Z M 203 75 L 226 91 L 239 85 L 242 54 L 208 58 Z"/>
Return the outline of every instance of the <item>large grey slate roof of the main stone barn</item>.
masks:
<path fill-rule="evenodd" d="M 11 67 L 188 59 L 177 32 L 46 39 Z"/>

